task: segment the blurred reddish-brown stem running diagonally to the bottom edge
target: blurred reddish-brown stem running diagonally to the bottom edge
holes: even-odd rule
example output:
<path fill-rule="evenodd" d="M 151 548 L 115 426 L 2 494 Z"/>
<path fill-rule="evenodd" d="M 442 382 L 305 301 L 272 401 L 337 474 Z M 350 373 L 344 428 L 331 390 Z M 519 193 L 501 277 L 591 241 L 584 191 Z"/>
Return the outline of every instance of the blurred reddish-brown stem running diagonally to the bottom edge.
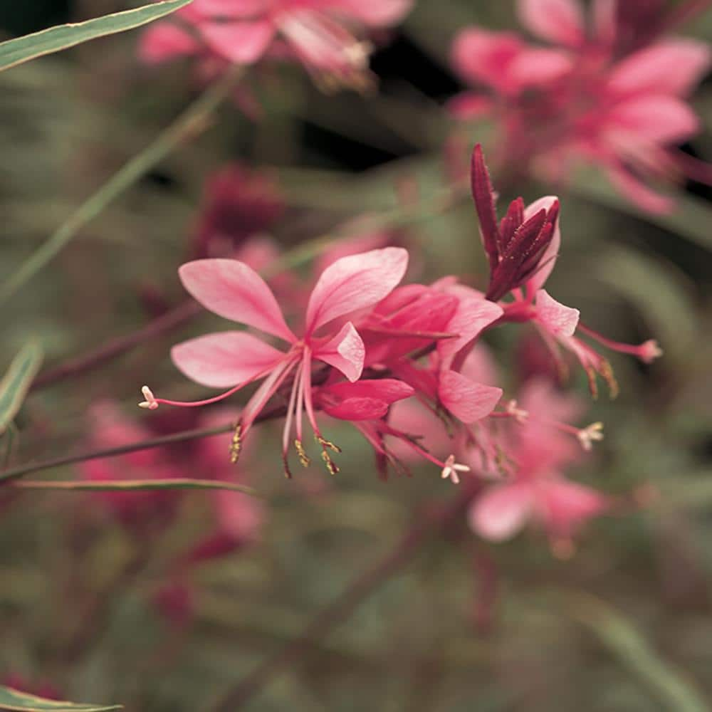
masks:
<path fill-rule="evenodd" d="M 416 523 L 397 541 L 392 550 L 356 577 L 333 602 L 321 609 L 299 637 L 264 659 L 251 674 L 230 689 L 211 708 L 211 712 L 234 712 L 260 693 L 274 677 L 292 668 L 303 658 L 313 642 L 322 639 L 333 628 L 344 622 L 379 585 L 412 560 L 430 535 L 461 516 L 475 494 L 476 488 L 464 488 L 456 498 L 439 511 L 420 514 Z"/>

